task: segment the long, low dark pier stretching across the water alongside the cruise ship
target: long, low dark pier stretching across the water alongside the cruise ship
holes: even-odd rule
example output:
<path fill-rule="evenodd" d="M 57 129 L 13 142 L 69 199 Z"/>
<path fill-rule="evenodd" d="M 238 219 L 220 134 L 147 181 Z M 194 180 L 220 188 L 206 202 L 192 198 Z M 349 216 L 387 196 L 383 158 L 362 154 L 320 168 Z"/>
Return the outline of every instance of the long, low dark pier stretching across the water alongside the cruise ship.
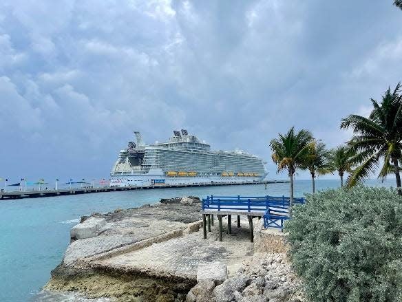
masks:
<path fill-rule="evenodd" d="M 12 191 L 1 192 L 0 199 L 19 199 L 19 198 L 38 198 L 38 197 L 52 197 L 62 195 L 75 195 L 75 194 L 87 194 L 87 193 L 99 193 L 99 192 L 116 192 L 116 191 L 131 191 L 131 190 L 146 190 L 154 188 L 192 188 L 198 186 L 235 186 L 244 184 L 284 184 L 286 180 L 272 180 L 272 181 L 260 181 L 260 182 L 226 182 L 218 183 L 213 182 L 211 184 L 156 184 L 149 186 L 105 186 L 99 188 L 65 188 L 59 190 L 41 190 L 41 191 Z"/>

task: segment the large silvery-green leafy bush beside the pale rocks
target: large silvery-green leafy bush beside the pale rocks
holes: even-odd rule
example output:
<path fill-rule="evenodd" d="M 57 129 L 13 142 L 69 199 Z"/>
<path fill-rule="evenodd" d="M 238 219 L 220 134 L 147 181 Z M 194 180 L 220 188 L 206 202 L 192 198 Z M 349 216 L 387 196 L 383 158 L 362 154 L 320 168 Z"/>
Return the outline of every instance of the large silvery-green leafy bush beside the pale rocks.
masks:
<path fill-rule="evenodd" d="M 357 187 L 307 195 L 286 222 L 310 301 L 402 301 L 402 197 Z"/>

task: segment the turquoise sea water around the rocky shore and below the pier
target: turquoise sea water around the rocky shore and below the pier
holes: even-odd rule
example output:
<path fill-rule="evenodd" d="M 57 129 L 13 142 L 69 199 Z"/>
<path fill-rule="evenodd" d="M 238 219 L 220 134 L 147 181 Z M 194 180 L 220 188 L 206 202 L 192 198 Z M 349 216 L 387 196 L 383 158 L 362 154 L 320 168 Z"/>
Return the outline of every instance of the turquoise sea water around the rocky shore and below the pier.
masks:
<path fill-rule="evenodd" d="M 370 186 L 394 186 L 390 177 Z M 317 190 L 336 188 L 339 180 L 317 180 Z M 295 197 L 310 193 L 310 180 L 295 181 Z M 63 257 L 70 228 L 83 215 L 105 213 L 158 202 L 161 198 L 195 195 L 288 195 L 289 184 L 165 188 L 0 201 L 0 301 L 78 301 L 76 296 L 49 296 L 41 287 Z M 79 301 L 85 301 L 84 299 Z"/>

